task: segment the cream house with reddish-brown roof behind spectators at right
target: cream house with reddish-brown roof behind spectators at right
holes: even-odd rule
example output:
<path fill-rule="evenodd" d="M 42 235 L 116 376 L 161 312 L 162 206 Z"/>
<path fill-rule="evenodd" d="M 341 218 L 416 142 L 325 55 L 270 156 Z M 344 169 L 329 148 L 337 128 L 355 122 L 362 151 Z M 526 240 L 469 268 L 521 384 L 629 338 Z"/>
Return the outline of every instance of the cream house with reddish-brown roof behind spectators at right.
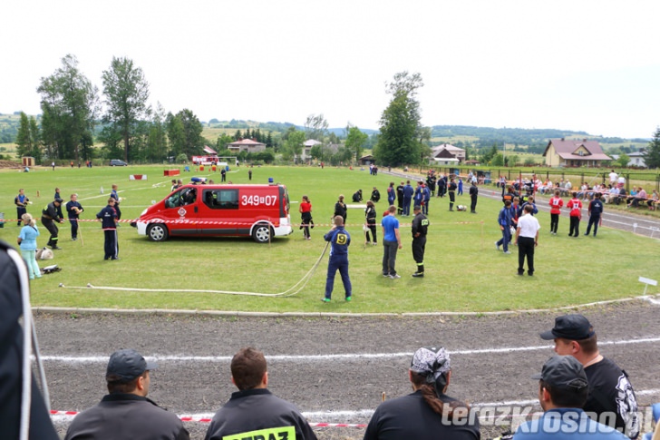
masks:
<path fill-rule="evenodd" d="M 597 141 L 587 139 L 550 139 L 543 157 L 548 167 L 599 167 L 611 161 Z"/>

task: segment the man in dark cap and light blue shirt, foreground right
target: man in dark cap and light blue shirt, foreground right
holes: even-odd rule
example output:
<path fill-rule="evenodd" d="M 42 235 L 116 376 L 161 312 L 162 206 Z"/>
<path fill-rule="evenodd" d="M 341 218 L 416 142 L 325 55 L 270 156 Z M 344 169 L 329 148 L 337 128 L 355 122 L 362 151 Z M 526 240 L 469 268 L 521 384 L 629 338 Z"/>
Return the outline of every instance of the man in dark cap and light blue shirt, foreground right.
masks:
<path fill-rule="evenodd" d="M 582 410 L 588 383 L 584 367 L 575 357 L 550 357 L 539 375 L 539 403 L 543 416 L 519 425 L 514 440 L 597 438 L 626 440 L 616 429 L 597 423 Z"/>

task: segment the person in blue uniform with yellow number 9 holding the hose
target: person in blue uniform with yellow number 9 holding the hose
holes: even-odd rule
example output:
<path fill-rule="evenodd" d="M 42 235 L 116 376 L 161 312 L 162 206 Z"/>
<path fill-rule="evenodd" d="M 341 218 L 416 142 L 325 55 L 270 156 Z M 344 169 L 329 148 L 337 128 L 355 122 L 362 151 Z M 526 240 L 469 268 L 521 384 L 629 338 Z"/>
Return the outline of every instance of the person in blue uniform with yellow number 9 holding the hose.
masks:
<path fill-rule="evenodd" d="M 335 275 L 337 270 L 342 276 L 344 283 L 345 299 L 351 300 L 353 288 L 351 287 L 351 278 L 348 276 L 348 247 L 351 245 L 351 236 L 344 229 L 344 219 L 337 215 L 333 220 L 335 225 L 323 237 L 325 241 L 330 241 L 330 259 L 327 263 L 327 278 L 325 279 L 325 297 L 324 302 L 330 302 L 333 288 L 335 287 Z"/>

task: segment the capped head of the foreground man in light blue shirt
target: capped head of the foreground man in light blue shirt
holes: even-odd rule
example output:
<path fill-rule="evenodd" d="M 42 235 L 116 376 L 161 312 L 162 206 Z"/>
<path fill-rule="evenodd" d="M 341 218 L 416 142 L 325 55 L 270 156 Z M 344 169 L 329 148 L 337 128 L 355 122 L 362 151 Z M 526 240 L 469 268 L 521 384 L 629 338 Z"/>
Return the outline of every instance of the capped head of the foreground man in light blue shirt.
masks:
<path fill-rule="evenodd" d="M 587 402 L 587 374 L 575 357 L 550 357 L 541 373 L 532 378 L 539 379 L 540 392 L 548 392 L 553 406 L 581 408 Z"/>

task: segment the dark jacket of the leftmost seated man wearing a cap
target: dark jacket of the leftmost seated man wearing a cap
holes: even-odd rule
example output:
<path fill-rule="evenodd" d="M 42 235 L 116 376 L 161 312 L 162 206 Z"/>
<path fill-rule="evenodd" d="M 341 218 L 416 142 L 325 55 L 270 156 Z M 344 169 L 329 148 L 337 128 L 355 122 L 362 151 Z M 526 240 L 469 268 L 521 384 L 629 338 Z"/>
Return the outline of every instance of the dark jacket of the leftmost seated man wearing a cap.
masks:
<path fill-rule="evenodd" d="M 73 419 L 64 440 L 189 440 L 180 418 L 133 394 L 103 396 Z"/>

